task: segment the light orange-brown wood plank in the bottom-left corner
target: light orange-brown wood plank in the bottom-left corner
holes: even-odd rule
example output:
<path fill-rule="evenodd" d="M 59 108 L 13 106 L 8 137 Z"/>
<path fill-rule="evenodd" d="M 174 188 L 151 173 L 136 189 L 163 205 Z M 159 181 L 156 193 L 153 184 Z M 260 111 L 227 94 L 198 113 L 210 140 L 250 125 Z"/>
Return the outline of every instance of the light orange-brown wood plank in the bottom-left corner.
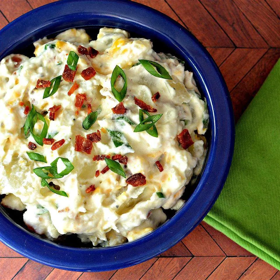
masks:
<path fill-rule="evenodd" d="M 0 279 L 12 279 L 27 261 L 27 258 L 0 258 Z"/>

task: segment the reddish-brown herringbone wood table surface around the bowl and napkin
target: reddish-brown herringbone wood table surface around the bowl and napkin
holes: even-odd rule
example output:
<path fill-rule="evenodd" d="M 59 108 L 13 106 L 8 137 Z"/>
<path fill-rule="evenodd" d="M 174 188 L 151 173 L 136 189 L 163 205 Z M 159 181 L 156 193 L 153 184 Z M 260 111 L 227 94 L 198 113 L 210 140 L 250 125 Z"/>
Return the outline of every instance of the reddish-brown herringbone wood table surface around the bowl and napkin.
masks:
<path fill-rule="evenodd" d="M 0 28 L 54 0 L 1 0 Z M 220 67 L 235 119 L 280 57 L 279 0 L 137 0 L 189 29 Z M 93 260 L 94 261 L 94 260 Z M 202 222 L 162 255 L 108 272 L 69 272 L 28 260 L 0 244 L 1 280 L 279 280 L 280 272 Z"/>

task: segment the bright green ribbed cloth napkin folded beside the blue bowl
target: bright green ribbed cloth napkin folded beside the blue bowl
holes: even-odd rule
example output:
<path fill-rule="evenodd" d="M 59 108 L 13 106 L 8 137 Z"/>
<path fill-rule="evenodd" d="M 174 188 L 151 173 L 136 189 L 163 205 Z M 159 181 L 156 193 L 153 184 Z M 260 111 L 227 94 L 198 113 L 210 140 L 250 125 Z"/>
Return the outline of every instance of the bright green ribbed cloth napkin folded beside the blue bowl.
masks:
<path fill-rule="evenodd" d="M 204 220 L 280 269 L 280 60 L 236 125 L 230 173 Z"/>

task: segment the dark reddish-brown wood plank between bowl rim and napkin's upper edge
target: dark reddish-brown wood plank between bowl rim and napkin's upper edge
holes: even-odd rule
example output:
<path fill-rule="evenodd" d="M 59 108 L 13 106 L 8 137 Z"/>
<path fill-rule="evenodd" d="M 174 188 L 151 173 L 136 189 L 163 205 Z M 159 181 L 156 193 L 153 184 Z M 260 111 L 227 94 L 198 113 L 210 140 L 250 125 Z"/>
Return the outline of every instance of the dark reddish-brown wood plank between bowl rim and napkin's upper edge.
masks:
<path fill-rule="evenodd" d="M 269 49 L 251 71 L 230 92 L 235 120 L 238 120 L 245 111 L 279 57 L 280 49 Z"/>

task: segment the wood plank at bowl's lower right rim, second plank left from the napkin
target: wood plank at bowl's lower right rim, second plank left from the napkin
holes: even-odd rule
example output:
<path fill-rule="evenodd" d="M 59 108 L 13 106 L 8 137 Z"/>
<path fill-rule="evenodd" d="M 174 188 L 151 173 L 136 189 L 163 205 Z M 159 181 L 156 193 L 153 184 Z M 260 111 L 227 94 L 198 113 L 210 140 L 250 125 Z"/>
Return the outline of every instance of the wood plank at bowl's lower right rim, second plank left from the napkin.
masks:
<path fill-rule="evenodd" d="M 201 225 L 198 225 L 182 241 L 194 256 L 225 256 L 225 253 Z"/>

